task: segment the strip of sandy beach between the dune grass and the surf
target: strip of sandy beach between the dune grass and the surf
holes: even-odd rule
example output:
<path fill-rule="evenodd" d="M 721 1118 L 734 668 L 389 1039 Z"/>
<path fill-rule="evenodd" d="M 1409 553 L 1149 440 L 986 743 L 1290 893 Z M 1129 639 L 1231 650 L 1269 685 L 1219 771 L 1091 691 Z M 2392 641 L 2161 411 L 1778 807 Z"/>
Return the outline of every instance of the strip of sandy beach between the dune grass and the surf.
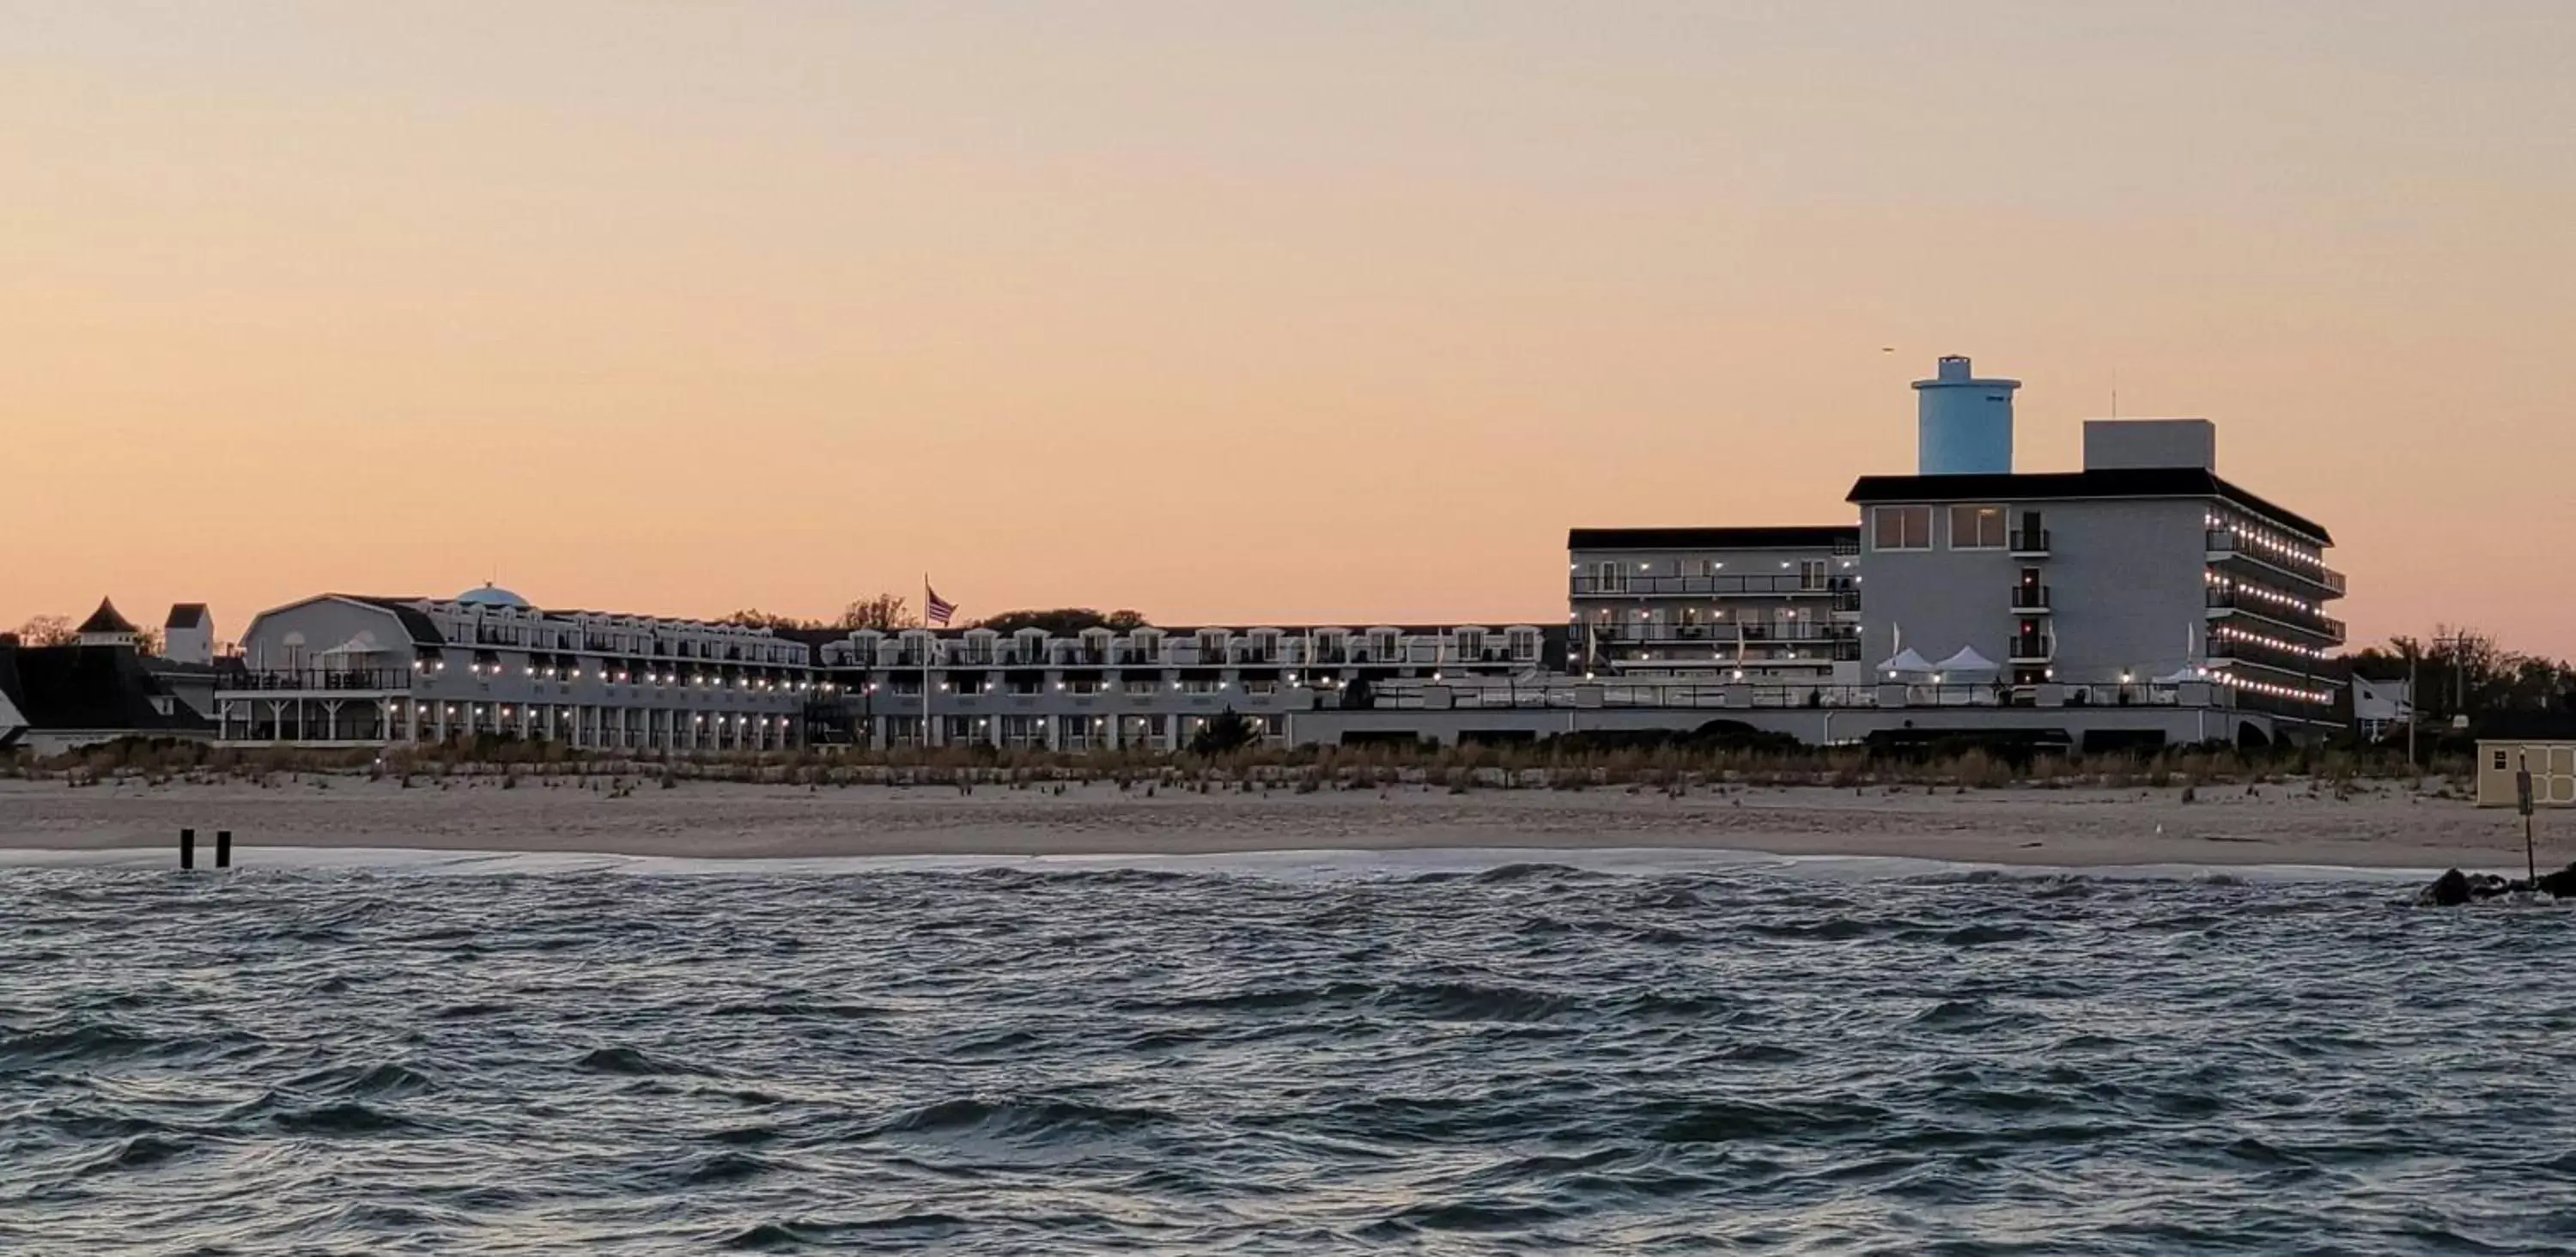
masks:
<path fill-rule="evenodd" d="M 1896 855 L 2004 865 L 2522 868 L 2506 811 L 2403 786 L 2331 788 L 1656 788 L 1450 793 L 1440 786 L 1193 793 L 1115 783 L 801 786 L 683 783 L 0 783 L 0 847 L 160 847 L 180 827 L 242 847 L 410 847 L 683 858 L 1213 855 L 1406 847 L 1677 847 Z M 2543 863 L 2568 840 L 2543 824 Z"/>

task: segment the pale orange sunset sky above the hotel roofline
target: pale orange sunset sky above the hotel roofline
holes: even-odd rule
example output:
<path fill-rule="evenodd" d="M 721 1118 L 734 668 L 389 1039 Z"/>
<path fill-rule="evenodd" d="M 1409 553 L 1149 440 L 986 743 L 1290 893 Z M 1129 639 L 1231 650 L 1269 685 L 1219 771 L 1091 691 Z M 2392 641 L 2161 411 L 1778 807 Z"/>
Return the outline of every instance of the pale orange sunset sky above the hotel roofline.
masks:
<path fill-rule="evenodd" d="M 2576 654 L 2576 5 L 0 0 L 0 626 L 1561 618 L 1940 353 Z M 1893 353 L 1883 353 L 1893 348 Z"/>

